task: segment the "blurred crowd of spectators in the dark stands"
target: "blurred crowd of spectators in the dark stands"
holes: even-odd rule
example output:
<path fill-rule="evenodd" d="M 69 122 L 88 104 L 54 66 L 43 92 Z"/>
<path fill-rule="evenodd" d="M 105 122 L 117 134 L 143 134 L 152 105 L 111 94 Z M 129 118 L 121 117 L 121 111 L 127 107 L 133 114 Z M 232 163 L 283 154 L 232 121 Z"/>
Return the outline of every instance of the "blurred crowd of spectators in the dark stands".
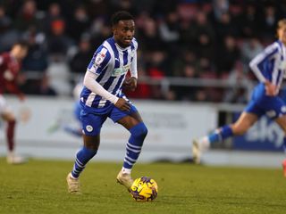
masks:
<path fill-rule="evenodd" d="M 71 95 L 92 54 L 112 35 L 111 15 L 129 11 L 139 41 L 139 78 L 255 79 L 248 62 L 275 39 L 286 1 L 1 0 L 0 52 L 29 42 L 19 84 L 29 95 Z M 139 81 L 130 97 L 246 102 L 238 88 L 171 86 Z"/>

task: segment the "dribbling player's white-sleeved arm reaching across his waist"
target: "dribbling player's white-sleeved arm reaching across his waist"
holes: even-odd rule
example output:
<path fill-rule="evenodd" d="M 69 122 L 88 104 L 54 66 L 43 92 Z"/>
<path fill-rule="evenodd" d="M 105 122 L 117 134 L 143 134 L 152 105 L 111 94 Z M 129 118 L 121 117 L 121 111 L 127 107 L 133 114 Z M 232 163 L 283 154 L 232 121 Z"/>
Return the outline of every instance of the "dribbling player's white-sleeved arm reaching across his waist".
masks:
<path fill-rule="evenodd" d="M 109 62 L 110 54 L 107 53 L 107 50 L 103 48 L 98 51 L 88 66 L 88 70 L 86 71 L 85 77 L 83 79 L 83 85 L 93 93 L 104 97 L 111 103 L 114 103 L 114 105 L 122 111 L 129 111 L 130 104 L 126 100 L 111 94 L 105 90 L 105 88 L 101 86 L 96 80 L 102 70 L 108 66 Z"/>

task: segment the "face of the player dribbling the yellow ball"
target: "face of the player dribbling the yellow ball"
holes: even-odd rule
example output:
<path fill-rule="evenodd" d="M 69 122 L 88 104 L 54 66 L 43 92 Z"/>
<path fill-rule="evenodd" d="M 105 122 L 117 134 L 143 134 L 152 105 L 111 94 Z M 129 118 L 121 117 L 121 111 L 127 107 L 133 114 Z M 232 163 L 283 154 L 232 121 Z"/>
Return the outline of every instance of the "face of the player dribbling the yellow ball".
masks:
<path fill-rule="evenodd" d="M 135 23 L 132 20 L 119 21 L 114 26 L 114 39 L 116 43 L 122 47 L 131 45 L 132 38 L 135 33 Z"/>

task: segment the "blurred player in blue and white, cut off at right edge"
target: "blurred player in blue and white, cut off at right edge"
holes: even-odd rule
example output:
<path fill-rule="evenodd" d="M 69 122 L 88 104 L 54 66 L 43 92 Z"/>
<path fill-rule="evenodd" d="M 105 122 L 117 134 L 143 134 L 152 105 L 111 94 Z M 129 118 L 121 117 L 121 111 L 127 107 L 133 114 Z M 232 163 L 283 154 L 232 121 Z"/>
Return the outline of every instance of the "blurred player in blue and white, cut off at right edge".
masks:
<path fill-rule="evenodd" d="M 193 141 L 192 153 L 195 162 L 200 162 L 201 153 L 206 151 L 210 144 L 230 136 L 243 135 L 262 115 L 273 119 L 286 135 L 286 104 L 278 96 L 286 72 L 286 19 L 278 21 L 277 37 L 277 41 L 268 45 L 249 63 L 259 83 L 253 90 L 248 106 L 233 124 Z M 286 148 L 286 136 L 283 144 Z"/>

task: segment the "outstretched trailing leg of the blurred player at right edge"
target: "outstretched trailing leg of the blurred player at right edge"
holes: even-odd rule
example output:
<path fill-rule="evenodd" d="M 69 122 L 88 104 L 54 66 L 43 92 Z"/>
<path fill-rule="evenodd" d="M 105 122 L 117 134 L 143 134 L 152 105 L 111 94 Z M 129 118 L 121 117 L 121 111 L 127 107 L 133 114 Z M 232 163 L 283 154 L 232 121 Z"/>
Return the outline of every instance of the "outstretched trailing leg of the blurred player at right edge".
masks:
<path fill-rule="evenodd" d="M 251 128 L 257 122 L 257 114 L 243 111 L 240 118 L 233 124 L 225 125 L 223 128 L 216 129 L 208 136 L 203 136 L 193 141 L 192 154 L 196 163 L 200 162 L 202 152 L 205 152 L 210 144 L 221 142 L 231 136 L 243 135 L 248 128 Z"/>

